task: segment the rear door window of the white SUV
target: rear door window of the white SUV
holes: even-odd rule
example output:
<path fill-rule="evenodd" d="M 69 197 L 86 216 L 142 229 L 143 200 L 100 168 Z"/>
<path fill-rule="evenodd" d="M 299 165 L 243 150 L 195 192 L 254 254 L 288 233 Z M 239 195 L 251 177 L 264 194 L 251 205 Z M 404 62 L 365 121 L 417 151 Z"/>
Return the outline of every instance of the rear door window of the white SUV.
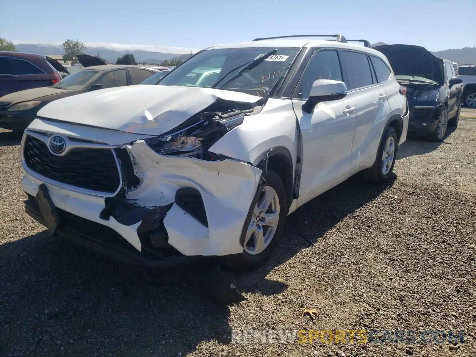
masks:
<path fill-rule="evenodd" d="M 362 88 L 373 84 L 370 64 L 365 53 L 342 51 L 342 57 L 349 74 L 348 83 L 346 83 L 347 89 Z"/>

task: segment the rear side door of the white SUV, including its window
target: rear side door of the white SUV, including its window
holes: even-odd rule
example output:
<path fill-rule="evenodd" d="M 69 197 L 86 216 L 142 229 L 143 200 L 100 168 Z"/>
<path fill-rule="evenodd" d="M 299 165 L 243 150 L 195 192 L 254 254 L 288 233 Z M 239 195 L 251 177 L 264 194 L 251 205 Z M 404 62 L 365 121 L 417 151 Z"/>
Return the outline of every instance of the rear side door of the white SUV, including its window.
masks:
<path fill-rule="evenodd" d="M 387 93 L 378 84 L 367 53 L 342 50 L 347 97 L 356 103 L 357 120 L 352 143 L 352 167 L 375 158 L 390 113 Z"/>

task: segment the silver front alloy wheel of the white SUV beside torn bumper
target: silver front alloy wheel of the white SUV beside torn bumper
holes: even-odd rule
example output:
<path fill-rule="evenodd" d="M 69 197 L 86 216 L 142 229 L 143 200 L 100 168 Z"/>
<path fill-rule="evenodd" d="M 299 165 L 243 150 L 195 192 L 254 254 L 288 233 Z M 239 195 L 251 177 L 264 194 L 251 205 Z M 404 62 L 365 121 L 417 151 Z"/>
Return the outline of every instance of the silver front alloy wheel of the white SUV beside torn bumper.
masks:
<path fill-rule="evenodd" d="M 271 243 L 278 228 L 279 208 L 278 193 L 274 188 L 265 186 L 248 224 L 244 244 L 248 254 L 257 255 Z"/>

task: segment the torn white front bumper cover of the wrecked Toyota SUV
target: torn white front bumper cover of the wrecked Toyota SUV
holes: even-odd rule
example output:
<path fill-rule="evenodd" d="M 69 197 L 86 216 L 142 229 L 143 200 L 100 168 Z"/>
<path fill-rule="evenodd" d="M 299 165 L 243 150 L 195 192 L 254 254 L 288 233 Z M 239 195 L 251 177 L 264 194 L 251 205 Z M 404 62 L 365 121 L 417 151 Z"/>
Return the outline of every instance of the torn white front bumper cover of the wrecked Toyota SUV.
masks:
<path fill-rule="evenodd" d="M 260 169 L 233 159 L 162 156 L 142 140 L 127 149 L 138 188 L 104 198 L 26 171 L 27 213 L 51 234 L 129 263 L 158 267 L 243 251 L 239 238 Z"/>

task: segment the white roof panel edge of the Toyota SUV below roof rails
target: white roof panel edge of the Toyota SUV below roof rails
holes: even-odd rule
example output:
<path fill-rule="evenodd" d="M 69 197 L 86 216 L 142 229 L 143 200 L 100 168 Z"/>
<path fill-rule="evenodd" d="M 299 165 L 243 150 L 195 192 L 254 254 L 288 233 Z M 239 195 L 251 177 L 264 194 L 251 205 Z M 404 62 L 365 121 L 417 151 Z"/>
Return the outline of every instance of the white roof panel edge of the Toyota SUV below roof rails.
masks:
<path fill-rule="evenodd" d="M 236 42 L 236 43 L 227 43 L 222 45 L 215 45 L 208 47 L 206 50 L 215 50 L 215 49 L 235 49 L 235 48 L 256 48 L 256 47 L 331 47 L 338 49 L 352 49 L 367 52 L 369 54 L 382 56 L 382 53 L 374 50 L 369 47 L 364 47 L 361 45 L 356 45 L 353 43 L 338 42 L 335 40 L 309 40 L 309 39 L 299 39 L 299 40 L 287 40 L 287 39 L 277 39 L 277 40 L 258 40 L 258 41 L 248 41 L 248 42 Z"/>

